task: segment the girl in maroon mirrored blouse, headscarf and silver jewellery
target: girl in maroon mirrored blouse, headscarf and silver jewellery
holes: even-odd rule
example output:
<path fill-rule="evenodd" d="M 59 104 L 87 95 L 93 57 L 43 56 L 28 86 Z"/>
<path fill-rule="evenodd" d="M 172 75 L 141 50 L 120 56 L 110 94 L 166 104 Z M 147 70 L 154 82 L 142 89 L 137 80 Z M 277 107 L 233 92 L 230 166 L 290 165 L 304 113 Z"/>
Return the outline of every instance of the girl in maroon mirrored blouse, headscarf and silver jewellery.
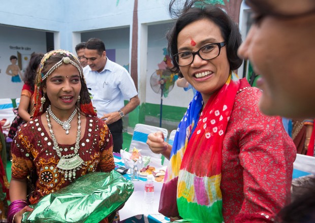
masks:
<path fill-rule="evenodd" d="M 78 177 L 115 168 L 112 136 L 91 105 L 78 58 L 65 50 L 46 53 L 35 84 L 34 117 L 12 144 L 9 222 L 21 222 L 32 210 L 28 204 Z"/>

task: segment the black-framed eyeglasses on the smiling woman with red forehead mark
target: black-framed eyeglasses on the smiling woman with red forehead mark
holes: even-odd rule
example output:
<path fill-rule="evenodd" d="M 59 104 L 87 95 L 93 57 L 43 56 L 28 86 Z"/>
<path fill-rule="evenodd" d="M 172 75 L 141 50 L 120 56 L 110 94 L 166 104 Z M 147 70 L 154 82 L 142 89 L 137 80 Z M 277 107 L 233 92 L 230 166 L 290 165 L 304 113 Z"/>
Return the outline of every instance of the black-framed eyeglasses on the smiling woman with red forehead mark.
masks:
<path fill-rule="evenodd" d="M 200 56 L 200 58 L 204 60 L 214 59 L 218 55 L 220 55 L 221 48 L 226 45 L 225 42 L 220 43 L 211 43 L 206 46 L 201 47 L 196 52 L 180 52 L 175 54 L 173 57 L 175 58 L 177 65 L 179 67 L 184 67 L 191 65 L 194 62 L 195 55 Z"/>

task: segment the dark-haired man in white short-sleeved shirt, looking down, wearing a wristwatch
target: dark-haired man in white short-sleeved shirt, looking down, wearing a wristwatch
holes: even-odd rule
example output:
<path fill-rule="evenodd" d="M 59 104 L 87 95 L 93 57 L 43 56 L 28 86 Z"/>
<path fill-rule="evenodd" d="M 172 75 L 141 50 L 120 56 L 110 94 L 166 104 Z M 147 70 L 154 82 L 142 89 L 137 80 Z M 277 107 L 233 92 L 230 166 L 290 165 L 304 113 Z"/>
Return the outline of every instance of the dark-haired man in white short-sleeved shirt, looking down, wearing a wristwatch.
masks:
<path fill-rule="evenodd" d="M 98 117 L 105 120 L 114 140 L 114 152 L 122 149 L 122 117 L 139 104 L 134 81 L 126 69 L 106 57 L 102 40 L 91 38 L 85 43 L 87 65 L 83 69 Z M 124 105 L 124 100 L 129 100 Z"/>

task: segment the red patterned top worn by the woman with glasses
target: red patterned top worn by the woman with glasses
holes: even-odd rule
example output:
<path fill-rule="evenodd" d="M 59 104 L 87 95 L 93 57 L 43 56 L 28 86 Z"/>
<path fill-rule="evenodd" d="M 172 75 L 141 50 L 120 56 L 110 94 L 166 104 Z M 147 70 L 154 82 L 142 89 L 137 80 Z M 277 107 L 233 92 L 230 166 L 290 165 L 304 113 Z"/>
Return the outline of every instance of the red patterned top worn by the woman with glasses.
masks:
<path fill-rule="evenodd" d="M 241 80 L 240 89 L 246 86 Z M 223 141 L 225 223 L 269 222 L 290 202 L 296 148 L 280 117 L 261 114 L 260 95 L 258 88 L 236 95 Z"/>

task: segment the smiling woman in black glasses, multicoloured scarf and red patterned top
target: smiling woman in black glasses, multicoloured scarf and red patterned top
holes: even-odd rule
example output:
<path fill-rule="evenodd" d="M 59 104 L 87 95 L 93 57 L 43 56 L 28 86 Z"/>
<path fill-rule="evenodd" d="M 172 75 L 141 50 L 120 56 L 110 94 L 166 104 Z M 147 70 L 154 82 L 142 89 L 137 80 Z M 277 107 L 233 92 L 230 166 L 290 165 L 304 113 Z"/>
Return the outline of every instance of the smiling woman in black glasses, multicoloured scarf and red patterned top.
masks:
<path fill-rule="evenodd" d="M 160 132 L 148 136 L 170 160 L 160 212 L 190 222 L 273 221 L 290 202 L 296 148 L 281 119 L 259 111 L 260 90 L 233 72 L 242 63 L 238 26 L 219 8 L 186 1 L 168 41 L 173 72 L 198 92 L 173 146 Z"/>

